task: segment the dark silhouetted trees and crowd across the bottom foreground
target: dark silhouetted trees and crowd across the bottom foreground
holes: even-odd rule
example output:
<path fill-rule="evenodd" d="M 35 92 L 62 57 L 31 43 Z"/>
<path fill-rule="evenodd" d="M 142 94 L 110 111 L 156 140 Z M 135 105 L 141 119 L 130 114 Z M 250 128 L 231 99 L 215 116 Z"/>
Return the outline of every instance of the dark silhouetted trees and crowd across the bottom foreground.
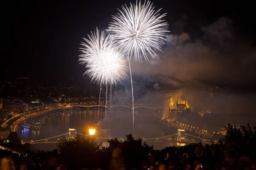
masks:
<path fill-rule="evenodd" d="M 189 144 L 154 150 L 126 135 L 109 146 L 83 136 L 62 139 L 52 151 L 0 150 L 0 170 L 255 170 L 256 127 L 228 125 L 218 144 Z"/>

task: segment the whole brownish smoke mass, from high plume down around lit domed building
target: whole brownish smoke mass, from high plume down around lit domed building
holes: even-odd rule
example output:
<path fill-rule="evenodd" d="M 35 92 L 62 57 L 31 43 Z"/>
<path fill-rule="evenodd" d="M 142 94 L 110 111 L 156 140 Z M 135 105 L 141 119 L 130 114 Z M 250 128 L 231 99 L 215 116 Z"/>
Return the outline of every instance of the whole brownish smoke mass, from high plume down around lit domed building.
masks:
<path fill-rule="evenodd" d="M 185 21 L 177 25 L 182 28 Z M 237 36 L 232 24 L 232 20 L 222 17 L 202 27 L 198 38 L 186 32 L 169 34 L 163 53 L 151 58 L 149 63 L 133 62 L 136 102 L 158 104 L 165 100 L 167 103 L 169 99 L 160 101 L 155 96 L 163 95 L 163 87 L 169 87 L 175 90 L 174 102 L 184 93 L 195 111 L 210 108 L 213 113 L 255 112 L 255 94 L 230 90 L 256 85 L 256 49 Z M 218 85 L 226 85 L 227 89 L 216 90 Z M 113 99 L 124 99 L 124 96 L 128 101 L 131 99 L 130 82 L 123 86 L 122 93 L 119 91 Z M 150 88 L 154 92 L 145 91 Z"/>

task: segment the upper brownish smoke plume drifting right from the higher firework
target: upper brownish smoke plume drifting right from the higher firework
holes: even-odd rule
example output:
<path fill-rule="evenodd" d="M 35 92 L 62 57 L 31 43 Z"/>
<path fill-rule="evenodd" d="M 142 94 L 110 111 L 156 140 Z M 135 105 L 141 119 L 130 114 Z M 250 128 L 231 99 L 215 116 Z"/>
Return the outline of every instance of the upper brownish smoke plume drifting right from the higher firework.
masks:
<path fill-rule="evenodd" d="M 201 31 L 202 36 L 195 39 L 186 32 L 170 34 L 163 53 L 150 63 L 133 63 L 133 74 L 156 76 L 176 86 L 198 82 L 255 85 L 256 49 L 236 37 L 232 20 L 222 17 Z"/>

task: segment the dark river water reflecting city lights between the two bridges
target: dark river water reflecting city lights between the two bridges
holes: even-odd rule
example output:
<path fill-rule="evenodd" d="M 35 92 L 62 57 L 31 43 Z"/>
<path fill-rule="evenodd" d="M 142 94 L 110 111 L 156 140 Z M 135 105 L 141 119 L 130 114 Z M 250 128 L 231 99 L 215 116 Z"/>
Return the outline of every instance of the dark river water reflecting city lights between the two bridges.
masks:
<path fill-rule="evenodd" d="M 99 120 L 98 108 L 96 107 L 89 111 L 82 107 L 58 110 L 28 119 L 26 123 L 51 116 L 51 119 L 47 119 L 41 123 L 39 130 L 24 127 L 24 123 L 20 124 L 18 134 L 24 142 L 46 139 L 68 133 L 69 128 L 76 129 L 78 133 L 88 134 L 90 125 L 92 123 L 98 123 L 95 134 L 97 137 L 125 139 L 125 134 L 132 133 L 135 138 L 148 139 L 177 133 L 175 130 L 167 130 L 160 126 L 159 120 L 165 114 L 163 110 L 153 112 L 147 108 L 140 108 L 134 113 L 135 121 L 133 128 L 132 112 L 127 108 L 115 108 L 111 110 L 111 113 L 109 111 L 106 113 L 105 109 L 101 108 L 99 111 Z M 58 138 L 49 139 L 49 142 L 56 142 L 57 140 Z M 175 143 L 160 142 L 148 142 L 147 144 L 154 145 L 154 149 L 163 149 L 164 147 L 175 145 Z M 40 150 L 53 150 L 57 144 L 32 144 L 32 146 Z"/>

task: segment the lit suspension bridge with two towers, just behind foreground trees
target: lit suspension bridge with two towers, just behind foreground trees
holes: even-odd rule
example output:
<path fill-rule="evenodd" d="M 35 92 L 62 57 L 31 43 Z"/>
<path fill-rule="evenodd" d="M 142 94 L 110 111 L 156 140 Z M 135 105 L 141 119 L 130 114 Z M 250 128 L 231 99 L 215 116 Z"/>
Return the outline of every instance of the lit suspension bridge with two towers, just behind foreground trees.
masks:
<path fill-rule="evenodd" d="M 53 136 L 46 139 L 40 139 L 35 141 L 29 141 L 29 142 L 22 142 L 22 144 L 49 144 L 49 143 L 59 143 L 63 142 L 61 141 L 61 138 L 63 139 L 73 139 L 76 138 L 76 136 L 81 135 L 85 136 L 86 138 L 91 138 L 94 142 L 108 142 L 108 140 L 112 138 L 102 138 L 102 137 L 96 137 L 96 136 L 90 136 L 82 133 L 76 132 L 75 129 L 69 129 L 68 133 L 64 133 L 58 136 Z M 117 139 L 119 142 L 124 142 L 125 139 L 120 138 Z M 198 136 L 193 136 L 188 133 L 184 129 L 178 129 L 177 133 L 167 135 L 167 136 L 161 136 L 161 137 L 155 137 L 155 138 L 148 138 L 142 139 L 143 142 L 167 142 L 167 143 L 179 143 L 185 145 L 186 143 L 198 143 L 202 142 L 204 144 L 211 144 L 213 141 L 209 139 L 203 139 Z M 215 142 L 214 142 L 215 143 Z"/>

